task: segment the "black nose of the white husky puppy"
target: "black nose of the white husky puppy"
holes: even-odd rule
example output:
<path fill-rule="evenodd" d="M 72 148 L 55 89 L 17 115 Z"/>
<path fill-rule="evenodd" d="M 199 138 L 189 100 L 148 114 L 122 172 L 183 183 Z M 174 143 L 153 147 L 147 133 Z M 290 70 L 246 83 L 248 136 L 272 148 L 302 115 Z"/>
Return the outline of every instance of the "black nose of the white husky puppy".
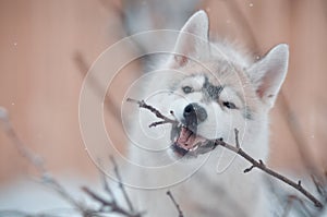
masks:
<path fill-rule="evenodd" d="M 189 104 L 185 108 L 184 108 L 184 113 L 183 113 L 186 123 L 192 122 L 192 124 L 197 124 L 201 123 L 203 121 L 205 121 L 208 117 L 206 110 L 201 107 L 198 104 Z"/>

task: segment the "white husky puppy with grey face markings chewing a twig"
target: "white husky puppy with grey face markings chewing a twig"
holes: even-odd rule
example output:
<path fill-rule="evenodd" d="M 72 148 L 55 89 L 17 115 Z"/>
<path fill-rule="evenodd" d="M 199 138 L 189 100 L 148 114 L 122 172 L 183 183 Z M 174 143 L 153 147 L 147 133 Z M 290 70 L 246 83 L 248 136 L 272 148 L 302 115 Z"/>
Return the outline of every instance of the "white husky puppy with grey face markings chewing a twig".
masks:
<path fill-rule="evenodd" d="M 133 190 L 133 201 L 146 216 L 178 216 L 170 189 L 187 217 L 272 216 L 263 173 L 243 173 L 251 165 L 210 141 L 235 144 L 238 129 L 240 146 L 267 159 L 268 112 L 287 74 L 288 46 L 252 60 L 227 43 L 210 43 L 208 28 L 207 14 L 196 12 L 172 55 L 146 75 L 142 99 L 179 123 L 148 128 L 153 114 L 140 111 L 129 176 L 143 190 Z"/>

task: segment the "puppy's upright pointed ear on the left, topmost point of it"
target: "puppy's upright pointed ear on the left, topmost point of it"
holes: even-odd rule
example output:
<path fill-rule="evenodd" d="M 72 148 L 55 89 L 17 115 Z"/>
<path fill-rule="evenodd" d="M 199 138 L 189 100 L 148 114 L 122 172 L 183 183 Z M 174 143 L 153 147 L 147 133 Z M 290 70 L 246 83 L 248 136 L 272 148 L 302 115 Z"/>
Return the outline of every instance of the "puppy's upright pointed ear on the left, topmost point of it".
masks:
<path fill-rule="evenodd" d="M 179 33 L 173 49 L 174 67 L 182 67 L 189 58 L 198 57 L 201 50 L 208 46 L 209 21 L 205 11 L 194 13 Z"/>

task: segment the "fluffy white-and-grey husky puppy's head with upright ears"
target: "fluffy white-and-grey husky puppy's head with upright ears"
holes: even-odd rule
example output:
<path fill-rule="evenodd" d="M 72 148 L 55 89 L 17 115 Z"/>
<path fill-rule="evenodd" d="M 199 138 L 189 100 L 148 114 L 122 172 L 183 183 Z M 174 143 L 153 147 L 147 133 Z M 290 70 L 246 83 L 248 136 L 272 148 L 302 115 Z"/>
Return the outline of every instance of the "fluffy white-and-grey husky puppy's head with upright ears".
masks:
<path fill-rule="evenodd" d="M 183 74 L 171 80 L 171 100 L 165 103 L 179 124 L 171 130 L 177 156 L 211 150 L 214 140 L 259 136 L 266 116 L 286 77 L 288 46 L 278 45 L 256 62 L 208 40 L 208 17 L 195 13 L 179 34 L 170 69 Z"/>

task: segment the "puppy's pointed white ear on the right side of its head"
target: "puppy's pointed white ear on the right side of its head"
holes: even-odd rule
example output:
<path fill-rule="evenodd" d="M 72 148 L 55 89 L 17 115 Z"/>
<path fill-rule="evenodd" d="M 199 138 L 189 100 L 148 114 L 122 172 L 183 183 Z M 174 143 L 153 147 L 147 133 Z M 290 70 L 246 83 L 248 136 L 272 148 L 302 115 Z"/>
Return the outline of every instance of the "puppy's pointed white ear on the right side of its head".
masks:
<path fill-rule="evenodd" d="M 288 71 L 289 46 L 280 44 L 274 47 L 262 60 L 249 70 L 249 76 L 259 98 L 270 108 Z"/>

